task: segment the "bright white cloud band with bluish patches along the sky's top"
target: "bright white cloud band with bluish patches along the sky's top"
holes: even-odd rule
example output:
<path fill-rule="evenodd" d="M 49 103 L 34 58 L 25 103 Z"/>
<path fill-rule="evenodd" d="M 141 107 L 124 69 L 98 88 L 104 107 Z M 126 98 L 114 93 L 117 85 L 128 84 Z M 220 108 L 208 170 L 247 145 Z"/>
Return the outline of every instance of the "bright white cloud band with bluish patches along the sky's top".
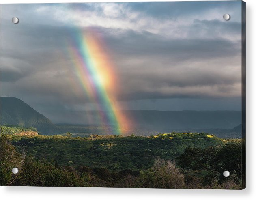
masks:
<path fill-rule="evenodd" d="M 35 12 L 43 18 L 51 16 L 50 23 L 55 26 L 73 24 L 80 27 L 114 28 L 119 31 L 131 29 L 172 38 L 188 37 L 188 34 L 184 34 L 188 32 L 186 28 L 194 24 L 195 20 L 200 19 L 201 22 L 223 20 L 223 13 L 229 13 L 232 16 L 232 21 L 222 23 L 224 26 L 241 24 L 240 2 L 42 4 L 35 9 Z M 219 30 L 215 27 L 216 24 L 211 23 L 211 25 L 213 25 L 211 30 L 215 28 Z M 198 30 L 200 27 L 195 28 Z M 222 30 L 225 31 L 225 28 Z M 192 36 L 195 35 L 192 34 Z M 224 37 L 223 33 L 222 37 Z"/>

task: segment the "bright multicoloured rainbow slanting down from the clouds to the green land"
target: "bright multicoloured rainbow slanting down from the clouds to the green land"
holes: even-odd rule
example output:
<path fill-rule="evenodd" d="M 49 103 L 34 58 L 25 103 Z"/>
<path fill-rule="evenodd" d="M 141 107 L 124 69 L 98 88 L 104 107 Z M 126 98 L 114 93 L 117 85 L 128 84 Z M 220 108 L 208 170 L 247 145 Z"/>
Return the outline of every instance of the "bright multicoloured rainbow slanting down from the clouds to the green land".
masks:
<path fill-rule="evenodd" d="M 69 54 L 86 97 L 97 105 L 101 125 L 112 127 L 116 135 L 127 133 L 131 123 L 116 101 L 117 77 L 104 42 L 89 28 L 78 30 L 73 38 Z"/>

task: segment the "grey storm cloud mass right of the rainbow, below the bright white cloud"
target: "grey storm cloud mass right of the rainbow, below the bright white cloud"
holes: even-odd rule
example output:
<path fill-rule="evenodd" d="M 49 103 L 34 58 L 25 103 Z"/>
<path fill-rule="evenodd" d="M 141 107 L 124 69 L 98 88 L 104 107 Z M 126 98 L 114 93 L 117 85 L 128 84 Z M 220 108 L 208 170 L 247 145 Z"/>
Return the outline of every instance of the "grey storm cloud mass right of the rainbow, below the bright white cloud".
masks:
<path fill-rule="evenodd" d="M 166 39 L 131 30 L 107 41 L 120 67 L 120 99 L 239 95 L 241 41 Z"/>

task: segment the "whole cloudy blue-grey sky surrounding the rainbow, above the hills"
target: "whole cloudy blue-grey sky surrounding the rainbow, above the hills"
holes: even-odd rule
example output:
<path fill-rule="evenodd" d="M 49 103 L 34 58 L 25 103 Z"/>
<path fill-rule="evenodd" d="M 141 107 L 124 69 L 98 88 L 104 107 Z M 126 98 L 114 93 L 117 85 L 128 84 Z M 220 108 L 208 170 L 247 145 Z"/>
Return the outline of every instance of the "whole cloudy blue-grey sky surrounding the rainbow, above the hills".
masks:
<path fill-rule="evenodd" d="M 70 51 L 81 32 L 100 39 L 121 110 L 241 110 L 241 1 L 2 4 L 1 96 L 53 121 L 99 109 Z"/>

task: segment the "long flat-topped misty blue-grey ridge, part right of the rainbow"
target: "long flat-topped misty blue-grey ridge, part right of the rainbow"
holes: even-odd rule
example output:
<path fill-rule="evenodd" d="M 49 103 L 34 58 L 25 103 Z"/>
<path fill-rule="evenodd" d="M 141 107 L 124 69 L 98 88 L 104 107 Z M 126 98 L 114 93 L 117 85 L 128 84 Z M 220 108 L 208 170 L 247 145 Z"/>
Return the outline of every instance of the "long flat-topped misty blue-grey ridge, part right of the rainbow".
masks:
<path fill-rule="evenodd" d="M 241 111 L 126 111 L 141 128 L 232 129 L 241 124 Z"/>

